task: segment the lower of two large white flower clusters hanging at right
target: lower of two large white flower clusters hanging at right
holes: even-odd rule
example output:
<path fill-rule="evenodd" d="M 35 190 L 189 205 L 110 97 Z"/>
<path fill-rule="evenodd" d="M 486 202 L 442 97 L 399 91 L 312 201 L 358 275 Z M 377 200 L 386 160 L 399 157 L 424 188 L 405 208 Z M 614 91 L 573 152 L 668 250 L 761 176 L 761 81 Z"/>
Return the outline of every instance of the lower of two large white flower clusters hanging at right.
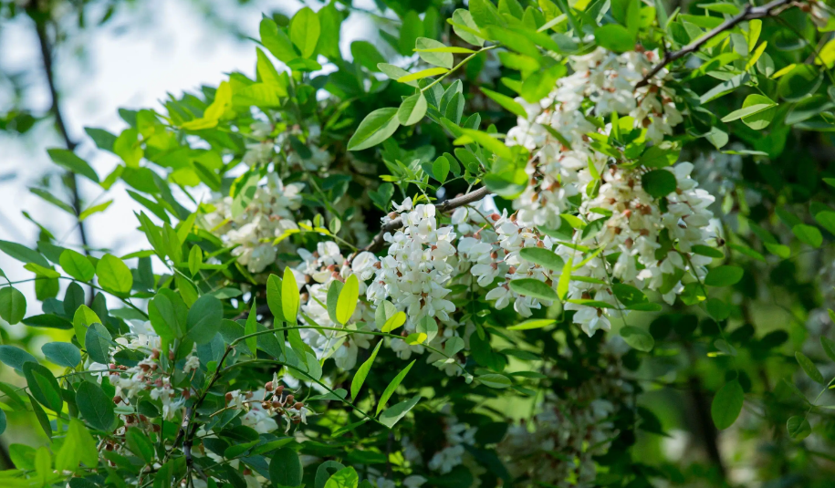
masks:
<path fill-rule="evenodd" d="M 697 183 L 690 178 L 693 164 L 683 162 L 665 170 L 671 171 L 676 181 L 676 191 L 667 195 L 666 208 L 642 189 L 640 171 L 616 167 L 604 171 L 600 193 L 583 202 L 579 211 L 589 222 L 600 217 L 600 212 L 611 216 L 600 217 L 605 219 L 600 233 L 585 239 L 582 233 L 575 233 L 574 238 L 575 244 L 590 249 L 603 247 L 604 251 L 600 257 L 572 271 L 572 275 L 598 281 L 572 280 L 569 299 L 592 298 L 614 304 L 607 287 L 611 276 L 627 285 L 659 291 L 664 301 L 672 304 L 675 296 L 684 289 L 681 280 L 692 280 L 689 276 L 685 278 L 684 273 L 704 276 L 705 265 L 711 258 L 691 254 L 688 263 L 680 252 L 691 253 L 695 244 L 705 244 L 713 235 L 708 227 L 713 213 L 708 206 L 714 202 L 714 197 L 698 189 Z M 577 255 L 575 249 L 566 245 L 558 246 L 557 253 L 567 262 Z M 607 258 L 615 255 L 617 259 L 610 268 Z M 639 265 L 643 269 L 639 269 Z M 600 285 L 600 282 L 607 285 Z M 569 303 L 567 308 L 578 310 L 574 321 L 590 335 L 597 328 L 610 328 L 603 309 L 575 303 Z"/>

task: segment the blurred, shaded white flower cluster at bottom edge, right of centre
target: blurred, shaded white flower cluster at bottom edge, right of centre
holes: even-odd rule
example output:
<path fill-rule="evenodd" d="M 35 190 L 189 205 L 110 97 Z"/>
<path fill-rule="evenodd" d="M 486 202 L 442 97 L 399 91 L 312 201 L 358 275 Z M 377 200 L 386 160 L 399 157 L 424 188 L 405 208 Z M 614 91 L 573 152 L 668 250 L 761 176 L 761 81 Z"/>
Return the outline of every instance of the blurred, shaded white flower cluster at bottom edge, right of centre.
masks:
<path fill-rule="evenodd" d="M 548 392 L 529 424 L 508 429 L 496 452 L 514 478 L 524 480 L 519 486 L 595 486 L 593 458 L 609 451 L 619 433 L 613 419 L 631 398 L 620 359 L 628 349 L 622 341 L 606 345 L 593 379 L 559 396 Z"/>

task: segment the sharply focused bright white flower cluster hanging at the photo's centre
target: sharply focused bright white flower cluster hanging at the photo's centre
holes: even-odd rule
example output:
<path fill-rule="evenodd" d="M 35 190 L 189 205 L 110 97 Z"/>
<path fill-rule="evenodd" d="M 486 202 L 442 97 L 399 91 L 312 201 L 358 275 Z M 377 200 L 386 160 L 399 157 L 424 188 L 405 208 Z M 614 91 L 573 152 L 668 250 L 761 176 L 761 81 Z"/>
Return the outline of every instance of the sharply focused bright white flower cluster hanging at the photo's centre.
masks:
<path fill-rule="evenodd" d="M 412 209 L 408 198 L 397 209 L 403 227 L 383 236 L 390 244 L 388 255 L 376 265 L 366 296 L 375 306 L 390 298 L 406 312 L 406 330 L 412 332 L 422 317 L 445 321 L 455 311 L 446 299 L 449 289 L 444 287 L 455 270 L 455 234 L 451 226 L 438 228 L 434 205 Z"/>

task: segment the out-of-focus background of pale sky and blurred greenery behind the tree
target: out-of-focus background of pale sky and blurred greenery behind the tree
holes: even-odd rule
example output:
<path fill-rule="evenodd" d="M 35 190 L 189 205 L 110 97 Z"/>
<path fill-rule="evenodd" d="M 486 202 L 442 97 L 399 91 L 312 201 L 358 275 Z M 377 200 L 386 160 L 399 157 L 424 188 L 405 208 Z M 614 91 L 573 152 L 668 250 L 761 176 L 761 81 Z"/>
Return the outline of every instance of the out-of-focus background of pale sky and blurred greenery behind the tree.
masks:
<path fill-rule="evenodd" d="M 423 0 L 343 3 L 350 12 L 340 40 L 346 58 L 356 58 L 361 53 L 360 45 L 351 44 L 358 39 L 369 40 L 385 58 L 410 55 L 413 43 L 401 46 L 398 41 L 407 26 L 416 31 L 414 37 L 449 42 L 449 36 L 444 37 L 448 26 L 443 19 L 464 4 Z M 697 13 L 696 2 L 663 4 L 667 11 L 681 7 L 684 12 Z M 132 240 L 138 234 L 132 223 L 112 222 L 107 214 L 99 214 L 78 226 L 63 227 L 55 218 L 54 208 L 33 196 L 37 192 L 56 195 L 63 202 L 70 202 L 74 213 L 97 197 L 86 192 L 72 174 L 47 166 L 46 148 L 78 146 L 78 151 L 90 155 L 94 146 L 82 128 L 123 126 L 121 120 L 111 118 L 119 107 L 153 105 L 153 100 L 165 99 L 166 92 L 179 97 L 178 90 L 183 87 L 191 87 L 197 93 L 202 82 L 214 84 L 222 73 L 253 72 L 255 56 L 249 39 L 256 37 L 258 13 L 273 16 L 280 24 L 282 18 L 292 16 L 301 6 L 284 0 L 0 2 L 0 239 L 34 244 L 39 234 L 53 234 L 86 249 L 120 249 L 124 253 L 137 249 Z M 311 2 L 311 6 L 318 9 L 321 4 Z M 437 20 L 414 22 L 412 13 L 424 18 L 436 16 Z M 765 32 L 763 36 L 776 37 L 777 44 L 788 46 L 800 42 L 802 33 L 809 29 L 814 27 L 798 13 L 797 18 L 788 18 L 787 28 Z M 197 36 L 193 36 L 195 32 Z M 130 55 L 126 55 L 127 59 L 108 57 L 114 51 L 104 48 L 110 42 L 124 46 L 149 39 L 157 47 L 133 59 Z M 193 48 L 204 42 L 211 46 L 208 51 L 220 51 L 220 55 L 207 55 L 202 49 L 188 52 L 176 46 L 191 43 L 189 47 Z M 214 49 L 219 46 L 231 47 Z M 779 52 L 794 56 L 788 50 Z M 809 51 L 801 52 L 801 56 L 809 56 Z M 172 58 L 166 61 L 166 57 Z M 360 57 L 367 59 L 371 69 L 376 67 L 373 52 Z M 111 62 L 119 66 L 118 76 L 110 72 Z M 177 76 L 170 76 L 165 68 L 172 64 L 181 65 Z M 183 71 L 189 70 L 197 78 L 183 75 Z M 97 82 L 103 72 L 108 74 L 105 84 L 130 78 L 132 87 L 147 84 L 152 88 L 136 93 L 108 88 Z M 495 59 L 486 55 L 470 63 L 462 77 L 467 107 L 478 108 L 483 116 L 498 115 L 471 82 L 478 80 L 480 86 L 510 94 L 498 82 L 503 75 Z M 165 80 L 164 85 L 158 83 L 160 79 Z M 713 80 L 705 79 L 705 83 L 705 87 L 694 89 L 704 93 Z M 91 94 L 90 86 L 97 91 Z M 402 94 L 410 92 L 390 84 L 379 93 L 360 98 L 352 109 L 368 113 L 376 107 L 394 106 Z M 725 100 L 725 113 L 739 106 L 744 95 L 735 94 L 738 99 L 733 102 Z M 512 118 L 494 121 L 499 130 L 514 123 Z M 786 130 L 764 137 L 753 131 L 743 132 L 741 137 L 747 136 L 746 143 L 771 154 L 772 162 L 760 164 L 744 154 L 728 156 L 734 161 L 725 163 L 738 166 L 740 180 L 716 182 L 728 187 L 725 200 L 718 202 L 716 209 L 723 214 L 726 228 L 745 235 L 750 234 L 751 223 L 771 222 L 772 229 L 778 229 L 779 218 L 790 219 L 777 209 L 805 213 L 810 203 L 822 201 L 820 195 L 827 192 L 822 178 L 835 176 L 830 134 L 807 132 L 794 137 Z M 425 130 L 422 137 L 437 144 L 436 153 L 450 149 L 449 140 L 441 132 Z M 699 171 L 699 161 L 707 161 L 711 156 L 701 149 L 691 151 Z M 89 161 L 102 170 L 112 167 L 112 161 L 106 157 Z M 710 175 L 705 179 L 709 181 Z M 760 196 L 752 198 L 748 192 Z M 114 208 L 127 209 L 130 204 L 130 200 L 117 201 Z M 370 221 L 379 217 L 380 214 L 369 213 Z M 756 228 L 754 232 L 759 235 Z M 788 417 L 798 413 L 797 401 L 792 400 L 795 390 L 799 388 L 807 398 L 814 398 L 819 391 L 799 371 L 794 351 L 803 350 L 812 358 L 822 358 L 817 338 L 832 336 L 833 322 L 827 308 L 833 306 L 835 298 L 835 254 L 824 245 L 765 263 L 756 255 L 753 260 L 747 259 L 751 254 L 746 251 L 750 247 L 745 242 L 736 245 L 740 254 L 731 259 L 744 265 L 746 274 L 732 292 L 732 319 L 739 326 L 731 337 L 746 345 L 736 357 L 741 371 L 739 380 L 746 392 L 758 392 L 759 400 L 746 403 L 746 410 L 732 429 L 717 432 L 710 418 L 711 399 L 734 368 L 728 357 L 699 359 L 710 353 L 709 344 L 719 337 L 719 330 L 714 321 L 684 310 L 678 315 L 664 315 L 647 324 L 658 350 L 640 365 L 631 365 L 636 369 L 635 378 L 646 379 L 642 382 L 645 391 L 638 399 L 643 427 L 634 440 L 634 455 L 640 457 L 642 469 L 666 472 L 681 482 L 676 484 L 687 486 L 719 486 L 725 481 L 741 486 L 832 486 L 835 417 L 817 414 L 814 435 L 800 444 L 789 439 L 785 425 Z M 15 266 L 9 264 L 8 258 L 0 255 L 0 267 L 14 277 Z M 44 342 L 68 338 L 62 331 L 0 325 L 4 326 L 0 328 L 4 344 L 12 341 L 36 355 Z M 827 378 L 835 373 L 831 363 L 819 366 Z M 23 383 L 7 368 L 0 369 L 0 379 Z M 827 393 L 819 403 L 833 405 L 835 398 Z M 513 410 L 517 406 L 507 408 Z M 28 417 L 9 415 L 10 426 L 0 443 L 43 444 L 42 432 L 30 421 Z M 5 449 L 0 449 L 0 454 L 7 455 Z M 0 468 L 3 467 L 0 459 Z"/>

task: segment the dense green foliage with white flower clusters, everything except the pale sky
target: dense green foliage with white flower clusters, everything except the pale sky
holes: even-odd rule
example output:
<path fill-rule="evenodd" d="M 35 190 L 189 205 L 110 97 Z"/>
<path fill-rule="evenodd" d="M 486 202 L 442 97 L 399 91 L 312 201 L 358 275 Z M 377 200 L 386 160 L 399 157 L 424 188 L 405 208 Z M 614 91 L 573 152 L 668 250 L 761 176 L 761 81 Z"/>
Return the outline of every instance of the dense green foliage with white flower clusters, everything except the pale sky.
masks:
<path fill-rule="evenodd" d="M 348 56 L 348 4 L 49 150 L 148 244 L 0 241 L 68 337 L 0 346 L 50 439 L 0 483 L 830 486 L 830 6 L 381 2 Z"/>

